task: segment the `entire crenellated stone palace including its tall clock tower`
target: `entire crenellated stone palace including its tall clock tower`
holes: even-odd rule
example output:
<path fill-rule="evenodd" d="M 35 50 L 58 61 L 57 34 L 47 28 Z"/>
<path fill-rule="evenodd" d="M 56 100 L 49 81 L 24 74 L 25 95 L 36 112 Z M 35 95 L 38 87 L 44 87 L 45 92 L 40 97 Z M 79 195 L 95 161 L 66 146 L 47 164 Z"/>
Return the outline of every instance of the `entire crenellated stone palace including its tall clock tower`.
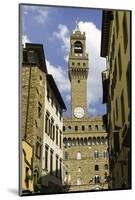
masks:
<path fill-rule="evenodd" d="M 63 184 L 68 192 L 108 189 L 107 133 L 102 116 L 91 118 L 88 116 L 89 61 L 86 35 L 79 30 L 78 25 L 70 36 L 68 63 L 71 117 L 64 119 L 63 126 Z"/>

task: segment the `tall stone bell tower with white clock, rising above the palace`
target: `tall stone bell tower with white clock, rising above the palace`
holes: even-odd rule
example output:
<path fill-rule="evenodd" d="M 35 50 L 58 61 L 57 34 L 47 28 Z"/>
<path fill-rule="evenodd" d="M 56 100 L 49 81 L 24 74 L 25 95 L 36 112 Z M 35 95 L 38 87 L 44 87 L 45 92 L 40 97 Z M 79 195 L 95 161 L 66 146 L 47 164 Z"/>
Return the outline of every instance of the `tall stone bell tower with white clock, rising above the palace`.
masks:
<path fill-rule="evenodd" d="M 70 36 L 68 74 L 71 82 L 72 119 L 87 118 L 88 54 L 86 36 L 79 30 L 78 24 Z"/>

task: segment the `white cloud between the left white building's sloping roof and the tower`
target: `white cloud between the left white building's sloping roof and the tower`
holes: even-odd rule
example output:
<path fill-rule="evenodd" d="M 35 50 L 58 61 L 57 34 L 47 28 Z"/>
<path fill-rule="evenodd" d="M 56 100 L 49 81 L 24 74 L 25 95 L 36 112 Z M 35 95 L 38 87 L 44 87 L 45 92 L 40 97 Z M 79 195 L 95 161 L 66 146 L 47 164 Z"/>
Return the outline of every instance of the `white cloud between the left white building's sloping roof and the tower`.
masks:
<path fill-rule="evenodd" d="M 64 71 L 61 66 L 54 66 L 48 60 L 46 60 L 47 70 L 49 74 L 52 74 L 60 92 L 65 93 L 66 100 L 69 101 L 70 83 L 68 79 L 68 72 Z"/>

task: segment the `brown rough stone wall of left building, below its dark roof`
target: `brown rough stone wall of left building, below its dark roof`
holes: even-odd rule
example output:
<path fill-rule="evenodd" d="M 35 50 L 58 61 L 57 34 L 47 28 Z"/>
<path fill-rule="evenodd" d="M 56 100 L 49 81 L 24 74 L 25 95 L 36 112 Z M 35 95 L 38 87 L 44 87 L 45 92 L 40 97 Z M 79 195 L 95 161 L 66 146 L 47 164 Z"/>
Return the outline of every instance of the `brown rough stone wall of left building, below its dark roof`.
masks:
<path fill-rule="evenodd" d="M 33 173 L 40 176 L 44 120 L 45 73 L 38 66 L 22 67 L 21 127 L 22 139 L 33 145 Z"/>

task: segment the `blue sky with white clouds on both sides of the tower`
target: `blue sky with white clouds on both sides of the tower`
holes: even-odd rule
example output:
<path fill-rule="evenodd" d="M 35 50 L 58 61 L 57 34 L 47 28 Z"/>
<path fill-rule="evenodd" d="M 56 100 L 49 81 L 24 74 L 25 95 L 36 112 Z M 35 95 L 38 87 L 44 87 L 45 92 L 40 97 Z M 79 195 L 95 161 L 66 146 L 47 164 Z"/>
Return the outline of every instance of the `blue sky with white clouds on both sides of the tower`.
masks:
<path fill-rule="evenodd" d="M 100 57 L 102 11 L 88 8 L 21 6 L 22 42 L 42 43 L 47 69 L 54 76 L 70 115 L 70 82 L 68 79 L 68 53 L 71 32 L 76 20 L 86 32 L 89 54 L 88 111 L 89 116 L 105 113 L 102 104 L 101 72 L 105 59 Z"/>

